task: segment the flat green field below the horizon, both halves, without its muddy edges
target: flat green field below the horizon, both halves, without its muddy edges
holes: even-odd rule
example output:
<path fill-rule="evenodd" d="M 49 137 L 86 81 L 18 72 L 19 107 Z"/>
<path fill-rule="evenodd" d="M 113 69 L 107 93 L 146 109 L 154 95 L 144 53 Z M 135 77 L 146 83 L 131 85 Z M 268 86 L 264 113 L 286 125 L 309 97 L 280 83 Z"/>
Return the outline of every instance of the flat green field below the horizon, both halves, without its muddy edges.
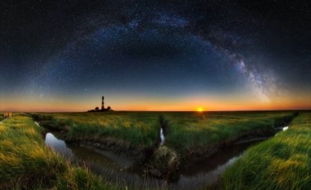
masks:
<path fill-rule="evenodd" d="M 72 139 L 115 137 L 154 146 L 164 128 L 165 144 L 178 153 L 237 137 L 249 131 L 273 131 L 290 122 L 293 111 L 38 113 L 42 126 L 66 129 Z"/>

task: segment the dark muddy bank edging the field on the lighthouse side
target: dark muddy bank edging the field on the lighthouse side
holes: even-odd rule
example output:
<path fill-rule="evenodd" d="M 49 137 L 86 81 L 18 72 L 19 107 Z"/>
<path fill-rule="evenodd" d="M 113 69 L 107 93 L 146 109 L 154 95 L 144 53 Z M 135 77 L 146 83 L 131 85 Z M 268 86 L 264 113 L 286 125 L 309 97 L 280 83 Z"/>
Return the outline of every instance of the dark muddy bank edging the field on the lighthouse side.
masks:
<path fill-rule="evenodd" d="M 81 134 L 75 135 L 71 133 L 73 122 L 70 120 L 57 120 L 52 116 L 33 114 L 32 119 L 35 123 L 44 127 L 46 131 L 42 135 L 46 135 L 48 131 L 53 132 L 56 137 L 64 140 L 68 144 L 86 146 L 89 149 L 100 149 L 104 151 L 112 151 L 117 154 L 124 154 L 131 160 L 135 160 L 138 164 L 144 164 L 149 160 L 150 156 L 161 142 L 160 133 L 158 140 L 153 142 L 151 146 L 143 146 L 140 144 L 131 144 L 126 140 L 116 137 L 100 137 L 96 134 L 93 136 Z"/>

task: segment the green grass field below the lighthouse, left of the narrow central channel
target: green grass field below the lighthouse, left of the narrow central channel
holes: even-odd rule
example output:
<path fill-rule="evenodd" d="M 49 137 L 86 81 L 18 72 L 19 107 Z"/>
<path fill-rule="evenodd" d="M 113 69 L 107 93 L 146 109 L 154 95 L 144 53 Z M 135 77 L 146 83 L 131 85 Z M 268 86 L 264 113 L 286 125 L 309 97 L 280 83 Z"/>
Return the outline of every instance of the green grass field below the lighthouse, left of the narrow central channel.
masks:
<path fill-rule="evenodd" d="M 102 141 L 106 137 L 134 146 L 151 147 L 158 142 L 158 114 L 146 112 L 44 113 L 34 115 L 41 126 L 66 130 L 66 140 Z"/>

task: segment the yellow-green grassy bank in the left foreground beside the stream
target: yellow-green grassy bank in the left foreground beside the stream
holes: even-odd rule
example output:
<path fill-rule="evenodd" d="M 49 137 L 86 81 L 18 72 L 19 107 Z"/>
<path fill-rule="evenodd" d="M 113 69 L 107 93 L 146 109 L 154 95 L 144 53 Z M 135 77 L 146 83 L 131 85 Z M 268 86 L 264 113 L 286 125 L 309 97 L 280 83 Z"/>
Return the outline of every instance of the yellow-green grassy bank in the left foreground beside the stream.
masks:
<path fill-rule="evenodd" d="M 0 124 L 0 189 L 117 189 L 48 149 L 41 130 L 30 117 Z"/>

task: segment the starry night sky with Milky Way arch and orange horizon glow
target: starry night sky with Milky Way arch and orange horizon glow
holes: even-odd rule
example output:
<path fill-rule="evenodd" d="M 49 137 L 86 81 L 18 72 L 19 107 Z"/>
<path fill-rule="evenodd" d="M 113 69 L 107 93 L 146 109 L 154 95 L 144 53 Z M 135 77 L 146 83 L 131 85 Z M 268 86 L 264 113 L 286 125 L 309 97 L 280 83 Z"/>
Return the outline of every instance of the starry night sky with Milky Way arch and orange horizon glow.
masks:
<path fill-rule="evenodd" d="M 287 2 L 287 3 L 286 3 Z M 0 1 L 0 111 L 311 108 L 308 1 Z"/>

